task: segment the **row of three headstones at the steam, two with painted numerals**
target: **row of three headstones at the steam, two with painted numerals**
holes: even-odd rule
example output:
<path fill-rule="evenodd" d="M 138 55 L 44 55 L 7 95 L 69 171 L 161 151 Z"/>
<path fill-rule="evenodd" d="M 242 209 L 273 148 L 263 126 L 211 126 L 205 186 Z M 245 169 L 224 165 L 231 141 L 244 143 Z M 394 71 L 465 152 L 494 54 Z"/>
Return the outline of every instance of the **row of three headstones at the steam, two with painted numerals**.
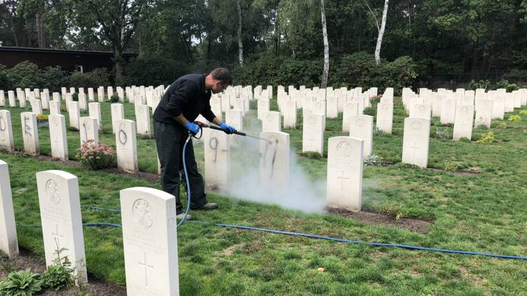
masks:
<path fill-rule="evenodd" d="M 259 183 L 265 188 L 287 187 L 290 177 L 290 138 L 284 132 L 261 132 Z M 203 131 L 205 184 L 229 190 L 231 138 L 215 130 Z M 364 140 L 338 136 L 328 140 L 327 202 L 350 210 L 362 204 Z"/>

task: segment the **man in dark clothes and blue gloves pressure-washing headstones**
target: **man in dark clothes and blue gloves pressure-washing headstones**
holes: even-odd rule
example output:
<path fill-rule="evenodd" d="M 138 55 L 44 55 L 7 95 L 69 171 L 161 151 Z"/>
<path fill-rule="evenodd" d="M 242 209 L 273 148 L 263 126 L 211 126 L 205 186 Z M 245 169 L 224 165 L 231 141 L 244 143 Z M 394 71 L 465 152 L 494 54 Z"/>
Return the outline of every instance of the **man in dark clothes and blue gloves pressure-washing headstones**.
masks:
<path fill-rule="evenodd" d="M 211 110 L 211 93 L 220 93 L 233 83 L 227 69 L 214 69 L 208 75 L 189 74 L 178 78 L 169 86 L 154 112 L 154 136 L 161 162 L 161 186 L 163 191 L 176 197 L 176 217 L 183 219 L 185 211 L 179 198 L 180 171 L 183 169 L 183 146 L 187 136 L 198 134 L 200 127 L 194 123 L 202 114 L 208 121 L 220 125 L 226 134 L 235 132 Z M 187 175 L 191 188 L 192 209 L 212 210 L 218 204 L 207 202 L 203 178 L 198 172 L 192 141 L 185 151 Z M 190 215 L 187 219 L 192 219 Z"/>

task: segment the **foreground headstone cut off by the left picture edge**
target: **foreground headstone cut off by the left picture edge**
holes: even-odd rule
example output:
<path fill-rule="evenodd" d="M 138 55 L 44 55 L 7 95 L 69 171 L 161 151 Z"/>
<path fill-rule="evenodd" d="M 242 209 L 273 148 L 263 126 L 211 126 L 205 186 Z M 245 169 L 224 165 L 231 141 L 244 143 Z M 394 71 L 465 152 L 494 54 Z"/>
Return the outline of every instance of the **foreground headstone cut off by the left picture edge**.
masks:
<path fill-rule="evenodd" d="M 0 160 L 0 251 L 10 257 L 19 254 L 9 169 L 8 164 L 2 160 Z"/>

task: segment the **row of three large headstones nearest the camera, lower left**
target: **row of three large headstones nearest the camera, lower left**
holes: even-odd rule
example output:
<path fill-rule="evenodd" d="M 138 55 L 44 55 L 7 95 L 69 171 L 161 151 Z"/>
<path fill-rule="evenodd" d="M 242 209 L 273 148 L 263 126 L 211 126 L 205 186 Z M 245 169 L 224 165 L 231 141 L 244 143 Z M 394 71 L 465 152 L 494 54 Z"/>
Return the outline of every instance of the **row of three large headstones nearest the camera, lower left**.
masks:
<path fill-rule="evenodd" d="M 78 178 L 65 171 L 36 173 L 47 267 L 64 249 L 75 274 L 87 282 Z M 19 252 L 8 164 L 0 160 L 0 250 Z M 126 290 L 128 295 L 178 295 L 176 199 L 161 190 L 121 190 Z"/>

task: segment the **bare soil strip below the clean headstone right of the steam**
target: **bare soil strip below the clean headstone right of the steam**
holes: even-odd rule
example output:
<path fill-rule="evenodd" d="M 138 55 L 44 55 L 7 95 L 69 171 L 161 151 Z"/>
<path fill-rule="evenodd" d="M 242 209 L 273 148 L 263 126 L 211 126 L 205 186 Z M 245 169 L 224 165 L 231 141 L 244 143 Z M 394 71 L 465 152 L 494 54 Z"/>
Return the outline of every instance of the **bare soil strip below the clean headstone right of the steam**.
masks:
<path fill-rule="evenodd" d="M 351 212 L 343 208 L 329 207 L 326 210 L 331 214 L 336 214 L 338 216 L 351 218 L 353 220 L 360 221 L 369 225 L 383 225 L 390 227 L 397 227 L 403 230 L 408 230 L 411 232 L 417 232 L 421 234 L 427 234 L 432 226 L 433 221 L 425 221 L 421 219 L 410 219 L 410 218 L 400 218 L 395 219 L 386 214 L 379 214 L 373 212 L 373 210 L 362 210 L 361 212 Z"/>

